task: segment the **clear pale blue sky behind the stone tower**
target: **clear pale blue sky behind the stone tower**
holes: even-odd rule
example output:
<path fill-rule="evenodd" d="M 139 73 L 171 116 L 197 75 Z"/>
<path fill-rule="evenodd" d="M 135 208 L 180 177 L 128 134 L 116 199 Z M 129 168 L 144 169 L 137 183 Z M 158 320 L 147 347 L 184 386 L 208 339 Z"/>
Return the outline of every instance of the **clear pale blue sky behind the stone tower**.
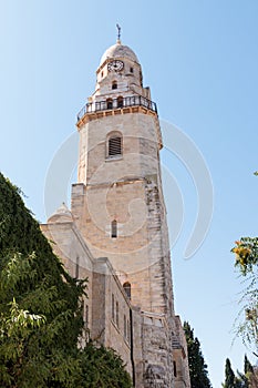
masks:
<path fill-rule="evenodd" d="M 176 310 L 194 327 L 216 388 L 226 357 L 241 369 L 245 354 L 240 340 L 231 345 L 242 285 L 230 248 L 239 236 L 257 235 L 258 2 L 0 0 L 1 171 L 44 222 L 49 165 L 75 130 L 116 22 L 140 58 L 159 118 L 193 140 L 210 171 L 213 222 L 186 261 L 196 190 L 182 162 L 163 155 L 185 205 L 172 253 Z M 169 203 L 173 193 L 166 196 Z"/>

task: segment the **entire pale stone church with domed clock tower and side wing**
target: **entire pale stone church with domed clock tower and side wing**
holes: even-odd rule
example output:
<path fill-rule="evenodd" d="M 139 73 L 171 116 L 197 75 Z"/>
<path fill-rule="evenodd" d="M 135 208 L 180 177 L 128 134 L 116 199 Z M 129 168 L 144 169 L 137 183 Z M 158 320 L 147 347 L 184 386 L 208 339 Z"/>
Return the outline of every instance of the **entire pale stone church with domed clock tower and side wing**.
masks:
<path fill-rule="evenodd" d="M 157 106 L 120 35 L 101 58 L 76 127 L 71 210 L 63 204 L 42 231 L 70 274 L 89 278 L 85 328 L 121 355 L 134 387 L 190 388 L 174 312 Z"/>

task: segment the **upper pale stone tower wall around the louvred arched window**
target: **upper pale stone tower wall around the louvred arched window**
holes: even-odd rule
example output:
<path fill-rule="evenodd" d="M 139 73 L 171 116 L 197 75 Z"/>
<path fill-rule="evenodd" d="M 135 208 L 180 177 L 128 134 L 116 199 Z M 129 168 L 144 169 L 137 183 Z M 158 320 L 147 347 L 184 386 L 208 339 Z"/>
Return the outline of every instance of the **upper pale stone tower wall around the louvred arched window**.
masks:
<path fill-rule="evenodd" d="M 123 155 L 115 160 L 107 157 L 107 136 L 114 132 L 123 135 Z M 84 124 L 80 127 L 78 182 L 92 185 L 157 174 L 159 136 L 156 119 L 143 113 L 104 116 Z M 144 141 L 152 145 L 143 146 Z"/>

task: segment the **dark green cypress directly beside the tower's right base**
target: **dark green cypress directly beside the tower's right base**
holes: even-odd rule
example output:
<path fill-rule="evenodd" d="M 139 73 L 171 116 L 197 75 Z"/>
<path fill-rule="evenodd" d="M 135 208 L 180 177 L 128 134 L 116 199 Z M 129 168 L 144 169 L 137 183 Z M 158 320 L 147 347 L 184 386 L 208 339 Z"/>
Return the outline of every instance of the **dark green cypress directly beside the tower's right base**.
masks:
<path fill-rule="evenodd" d="M 207 365 L 205 364 L 198 338 L 194 337 L 194 329 L 185 321 L 184 330 L 187 343 L 189 375 L 192 388 L 210 388 Z"/>

